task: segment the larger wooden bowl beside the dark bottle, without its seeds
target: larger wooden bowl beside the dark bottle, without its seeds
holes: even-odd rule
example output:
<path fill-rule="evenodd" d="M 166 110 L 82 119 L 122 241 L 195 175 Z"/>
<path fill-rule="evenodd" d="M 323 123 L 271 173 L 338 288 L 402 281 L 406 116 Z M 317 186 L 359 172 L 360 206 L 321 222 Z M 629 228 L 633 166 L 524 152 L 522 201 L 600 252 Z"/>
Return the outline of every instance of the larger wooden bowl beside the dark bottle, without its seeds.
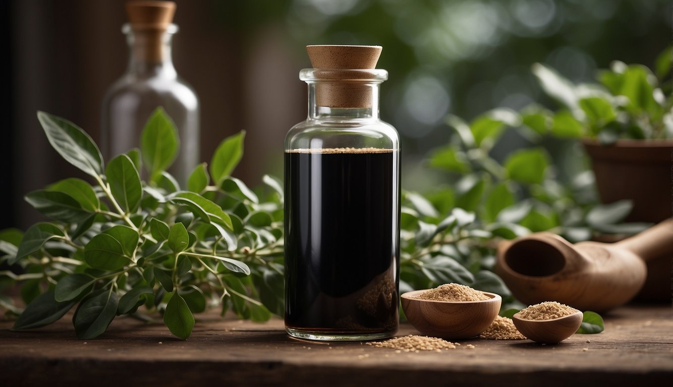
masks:
<path fill-rule="evenodd" d="M 444 339 L 468 339 L 478 336 L 495 320 L 502 298 L 482 292 L 491 299 L 483 301 L 432 301 L 415 298 L 427 290 L 402 294 L 402 310 L 411 325 L 423 335 Z"/>

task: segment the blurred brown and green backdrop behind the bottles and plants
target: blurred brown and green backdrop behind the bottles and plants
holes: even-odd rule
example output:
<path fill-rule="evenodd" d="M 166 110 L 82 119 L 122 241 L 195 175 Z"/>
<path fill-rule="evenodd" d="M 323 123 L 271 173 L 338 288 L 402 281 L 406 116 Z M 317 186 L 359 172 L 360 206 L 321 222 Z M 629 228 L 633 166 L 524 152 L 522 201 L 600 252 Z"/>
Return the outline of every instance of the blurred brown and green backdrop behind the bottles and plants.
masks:
<path fill-rule="evenodd" d="M 78 175 L 59 161 L 35 118 L 45 110 L 98 140 L 100 102 L 127 63 L 124 1 L 3 2 L 9 71 L 3 82 L 0 228 L 39 218 L 27 191 Z M 378 44 L 382 118 L 398 129 L 403 185 L 423 191 L 441 177 L 423 165 L 445 144 L 447 114 L 470 120 L 493 107 L 553 106 L 530 72 L 542 62 L 572 81 L 592 81 L 612 60 L 651 65 L 671 42 L 670 0 L 203 0 L 177 1 L 178 73 L 201 99 L 201 159 L 247 130 L 237 177 L 256 185 L 282 175 L 283 136 L 306 116 L 307 44 Z M 547 144 L 555 155 L 567 146 Z M 508 133 L 506 155 L 526 140 Z M 575 153 L 572 153 L 575 157 Z M 577 163 L 571 160 L 569 164 Z M 579 160 L 581 163 L 581 160 Z M 572 167 L 570 168 L 572 170 Z M 561 174 L 563 178 L 563 174 Z"/>

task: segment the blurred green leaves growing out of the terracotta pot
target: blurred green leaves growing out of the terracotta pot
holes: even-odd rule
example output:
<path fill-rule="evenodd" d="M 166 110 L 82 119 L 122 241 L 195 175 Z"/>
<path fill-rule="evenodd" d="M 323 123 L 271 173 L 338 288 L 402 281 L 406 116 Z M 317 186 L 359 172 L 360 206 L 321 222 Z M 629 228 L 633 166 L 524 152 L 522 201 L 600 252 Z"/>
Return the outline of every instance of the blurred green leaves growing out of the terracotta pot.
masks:
<path fill-rule="evenodd" d="M 535 64 L 533 73 L 542 89 L 565 107 L 553 117 L 551 133 L 587 136 L 604 144 L 619 138 L 673 138 L 673 97 L 664 83 L 670 75 L 670 56 L 669 47 L 657 59 L 656 73 L 642 64 L 612 62 L 610 69 L 598 73 L 599 83 L 592 85 L 573 84 L 553 69 Z M 533 125 L 536 132 L 546 132 L 538 122 Z"/>

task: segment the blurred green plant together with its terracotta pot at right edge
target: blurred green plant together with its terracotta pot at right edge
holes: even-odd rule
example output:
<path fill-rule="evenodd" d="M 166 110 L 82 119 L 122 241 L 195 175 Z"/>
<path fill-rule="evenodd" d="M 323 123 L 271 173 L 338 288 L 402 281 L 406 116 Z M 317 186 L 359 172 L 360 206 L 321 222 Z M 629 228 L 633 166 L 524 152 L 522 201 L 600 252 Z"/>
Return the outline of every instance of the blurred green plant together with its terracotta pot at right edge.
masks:
<path fill-rule="evenodd" d="M 612 62 L 598 84 L 574 84 L 553 69 L 534 64 L 542 89 L 562 105 L 538 110 L 562 137 L 580 138 L 590 157 L 600 200 L 631 200 L 627 220 L 660 222 L 672 216 L 673 97 L 671 48 L 655 71 L 642 64 Z M 670 300 L 670 257 L 648 263 L 641 298 Z"/>

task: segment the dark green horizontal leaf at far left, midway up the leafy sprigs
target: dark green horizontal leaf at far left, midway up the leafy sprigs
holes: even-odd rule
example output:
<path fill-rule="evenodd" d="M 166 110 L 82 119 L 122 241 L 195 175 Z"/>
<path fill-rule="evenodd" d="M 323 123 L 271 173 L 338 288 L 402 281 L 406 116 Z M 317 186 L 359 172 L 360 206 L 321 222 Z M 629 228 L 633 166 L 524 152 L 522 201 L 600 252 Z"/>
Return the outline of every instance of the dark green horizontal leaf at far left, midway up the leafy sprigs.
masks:
<path fill-rule="evenodd" d="M 77 200 L 59 191 L 38 189 L 27 193 L 25 199 L 46 218 L 64 223 L 79 222 L 90 214 L 81 207 Z"/>

